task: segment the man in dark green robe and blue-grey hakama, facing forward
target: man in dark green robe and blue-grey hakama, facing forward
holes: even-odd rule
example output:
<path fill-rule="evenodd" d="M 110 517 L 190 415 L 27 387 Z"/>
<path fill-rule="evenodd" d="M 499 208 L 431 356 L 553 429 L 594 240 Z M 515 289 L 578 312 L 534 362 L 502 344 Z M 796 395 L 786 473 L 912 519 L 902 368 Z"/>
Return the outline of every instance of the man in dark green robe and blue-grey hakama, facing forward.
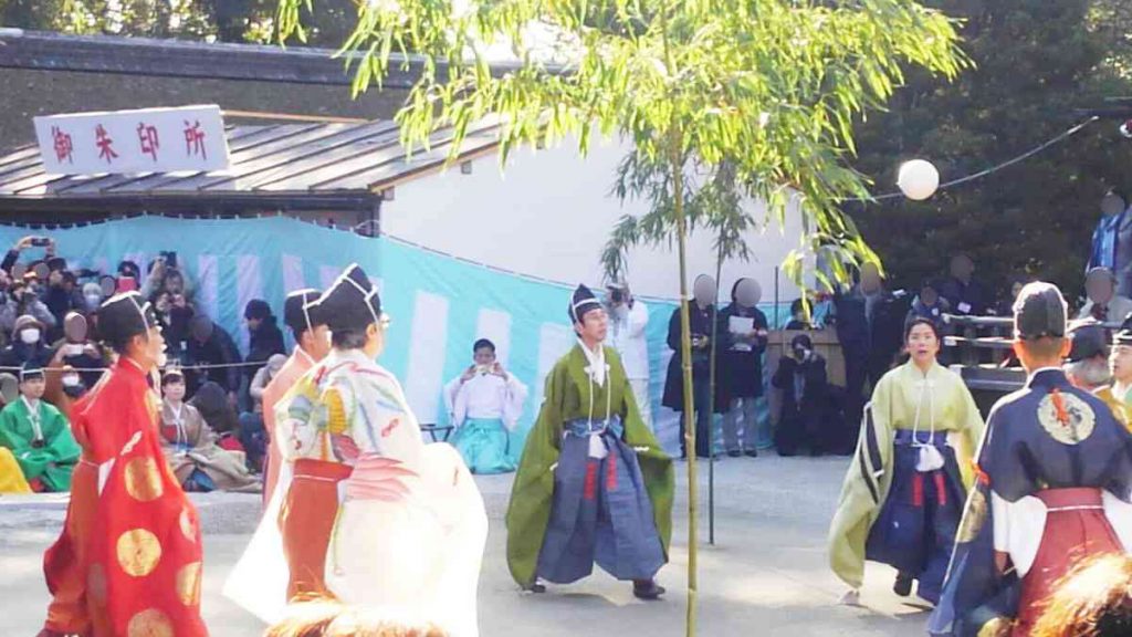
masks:
<path fill-rule="evenodd" d="M 539 579 L 576 581 L 597 562 L 637 597 L 664 589 L 675 474 L 641 419 L 616 350 L 602 341 L 608 317 L 584 286 L 569 316 L 578 343 L 547 376 L 507 510 L 507 563 L 525 589 Z"/>

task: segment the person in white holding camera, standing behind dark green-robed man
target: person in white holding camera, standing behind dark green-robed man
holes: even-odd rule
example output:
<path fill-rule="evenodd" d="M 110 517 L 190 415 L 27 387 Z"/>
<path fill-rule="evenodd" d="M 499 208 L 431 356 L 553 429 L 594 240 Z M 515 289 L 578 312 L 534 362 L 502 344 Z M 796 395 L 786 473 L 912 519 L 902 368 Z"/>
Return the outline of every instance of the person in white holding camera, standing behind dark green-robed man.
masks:
<path fill-rule="evenodd" d="M 614 349 L 621 355 L 625 375 L 633 388 L 641 419 L 655 431 L 652 422 L 652 398 L 649 392 L 649 307 L 635 298 L 625 281 L 606 287 L 606 306 L 609 308 L 609 328 Z"/>

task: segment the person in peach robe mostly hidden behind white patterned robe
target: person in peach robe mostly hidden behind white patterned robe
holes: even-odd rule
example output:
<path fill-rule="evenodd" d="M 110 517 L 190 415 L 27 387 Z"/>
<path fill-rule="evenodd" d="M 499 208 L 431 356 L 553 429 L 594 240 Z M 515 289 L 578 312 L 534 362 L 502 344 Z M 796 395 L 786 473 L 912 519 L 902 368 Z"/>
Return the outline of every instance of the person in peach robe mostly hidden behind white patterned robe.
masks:
<path fill-rule="evenodd" d="M 294 334 L 294 353 L 283 364 L 272 382 L 264 389 L 264 430 L 271 440 L 267 451 L 267 468 L 264 472 L 264 506 L 272 501 L 275 486 L 280 483 L 280 468 L 283 457 L 275 438 L 275 407 L 294 383 L 303 376 L 316 363 L 331 353 L 331 332 L 326 320 L 311 314 L 310 304 L 321 295 L 318 290 L 299 290 L 286 296 L 283 303 L 283 322 Z"/>

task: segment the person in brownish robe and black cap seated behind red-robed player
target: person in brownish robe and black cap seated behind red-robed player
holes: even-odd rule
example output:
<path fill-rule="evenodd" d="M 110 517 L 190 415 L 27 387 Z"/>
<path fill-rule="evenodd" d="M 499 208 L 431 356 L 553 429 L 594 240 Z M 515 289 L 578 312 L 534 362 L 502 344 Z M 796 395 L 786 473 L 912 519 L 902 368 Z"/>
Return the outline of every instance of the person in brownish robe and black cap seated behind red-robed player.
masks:
<path fill-rule="evenodd" d="M 161 442 L 165 460 L 185 491 L 259 493 L 241 455 L 216 444 L 200 411 L 185 402 L 185 374 L 173 368 L 162 376 Z"/>

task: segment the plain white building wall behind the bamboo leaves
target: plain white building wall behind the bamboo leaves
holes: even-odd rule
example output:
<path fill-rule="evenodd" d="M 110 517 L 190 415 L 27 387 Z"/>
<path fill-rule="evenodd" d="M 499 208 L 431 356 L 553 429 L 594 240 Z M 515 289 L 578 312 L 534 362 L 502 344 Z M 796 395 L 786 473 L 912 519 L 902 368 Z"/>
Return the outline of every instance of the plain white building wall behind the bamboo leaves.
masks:
<path fill-rule="evenodd" d="M 625 206 L 610 194 L 618 162 L 627 146 L 594 143 L 581 158 L 573 142 L 513 153 L 506 171 L 498 155 L 475 160 L 471 175 L 458 165 L 397 186 L 394 201 L 381 205 L 381 230 L 393 237 L 471 261 L 523 274 L 574 284 L 600 284 L 604 246 L 616 221 L 626 212 L 646 210 L 642 201 Z M 751 205 L 760 205 L 752 203 Z M 748 263 L 724 265 L 721 296 L 739 277 L 763 286 L 772 301 L 774 267 L 798 246 L 800 219 L 791 211 L 784 231 L 752 232 Z M 761 218 L 761 215 L 760 215 Z M 709 231 L 695 231 L 688 244 L 688 279 L 714 273 L 715 254 Z M 638 248 L 631 254 L 634 294 L 675 299 L 679 296 L 676 246 Z M 798 290 L 781 278 L 782 301 Z"/>

